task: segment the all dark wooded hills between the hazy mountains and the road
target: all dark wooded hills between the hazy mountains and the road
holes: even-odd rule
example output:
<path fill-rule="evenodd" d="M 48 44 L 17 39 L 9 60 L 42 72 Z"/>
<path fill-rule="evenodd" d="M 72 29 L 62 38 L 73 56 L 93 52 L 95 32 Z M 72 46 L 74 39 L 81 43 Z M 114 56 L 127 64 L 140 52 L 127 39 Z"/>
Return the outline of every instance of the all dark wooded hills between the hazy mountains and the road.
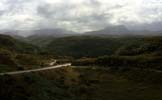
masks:
<path fill-rule="evenodd" d="M 55 38 L 39 48 L 0 35 L 1 69 L 8 68 L 5 66 L 44 66 L 45 59 L 50 58 L 59 59 L 58 63 L 72 62 L 73 65 L 161 69 L 162 37 L 71 36 Z"/>

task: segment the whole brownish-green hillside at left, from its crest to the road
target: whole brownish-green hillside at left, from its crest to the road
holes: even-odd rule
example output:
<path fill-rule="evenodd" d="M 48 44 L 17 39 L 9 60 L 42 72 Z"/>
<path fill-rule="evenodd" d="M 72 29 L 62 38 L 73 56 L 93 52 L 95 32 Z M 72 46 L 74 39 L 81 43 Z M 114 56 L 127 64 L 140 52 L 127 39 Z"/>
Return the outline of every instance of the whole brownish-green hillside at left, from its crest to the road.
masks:
<path fill-rule="evenodd" d="M 0 35 L 0 72 L 31 69 L 46 64 L 37 46 Z"/>

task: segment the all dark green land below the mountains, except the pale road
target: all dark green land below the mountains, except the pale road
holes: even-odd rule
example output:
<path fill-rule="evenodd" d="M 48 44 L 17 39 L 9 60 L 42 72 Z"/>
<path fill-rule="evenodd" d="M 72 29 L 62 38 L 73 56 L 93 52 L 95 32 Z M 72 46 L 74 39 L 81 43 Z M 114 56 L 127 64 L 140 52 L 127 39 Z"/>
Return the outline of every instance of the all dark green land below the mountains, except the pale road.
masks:
<path fill-rule="evenodd" d="M 0 35 L 0 72 L 47 66 L 51 58 L 77 67 L 0 76 L 0 99 L 162 99 L 161 36 L 46 39 L 35 46 Z"/>

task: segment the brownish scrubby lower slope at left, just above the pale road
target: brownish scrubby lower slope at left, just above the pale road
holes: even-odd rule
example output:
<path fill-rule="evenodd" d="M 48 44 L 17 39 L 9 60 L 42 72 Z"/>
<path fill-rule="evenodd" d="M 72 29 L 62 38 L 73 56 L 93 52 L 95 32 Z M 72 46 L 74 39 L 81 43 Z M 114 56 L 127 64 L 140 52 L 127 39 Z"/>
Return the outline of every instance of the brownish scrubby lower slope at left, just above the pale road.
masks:
<path fill-rule="evenodd" d="M 0 49 L 0 71 L 32 69 L 47 65 L 46 58 L 37 54 L 21 54 Z"/>

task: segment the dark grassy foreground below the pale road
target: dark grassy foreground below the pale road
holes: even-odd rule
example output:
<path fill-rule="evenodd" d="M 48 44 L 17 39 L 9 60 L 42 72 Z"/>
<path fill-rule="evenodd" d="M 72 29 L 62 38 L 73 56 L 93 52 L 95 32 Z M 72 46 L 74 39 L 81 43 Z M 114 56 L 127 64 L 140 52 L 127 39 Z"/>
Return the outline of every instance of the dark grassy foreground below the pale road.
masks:
<path fill-rule="evenodd" d="M 154 72 L 65 67 L 22 76 L 1 76 L 0 98 L 2 100 L 162 100 L 162 82 L 157 81 L 160 76 L 161 73 Z"/>

